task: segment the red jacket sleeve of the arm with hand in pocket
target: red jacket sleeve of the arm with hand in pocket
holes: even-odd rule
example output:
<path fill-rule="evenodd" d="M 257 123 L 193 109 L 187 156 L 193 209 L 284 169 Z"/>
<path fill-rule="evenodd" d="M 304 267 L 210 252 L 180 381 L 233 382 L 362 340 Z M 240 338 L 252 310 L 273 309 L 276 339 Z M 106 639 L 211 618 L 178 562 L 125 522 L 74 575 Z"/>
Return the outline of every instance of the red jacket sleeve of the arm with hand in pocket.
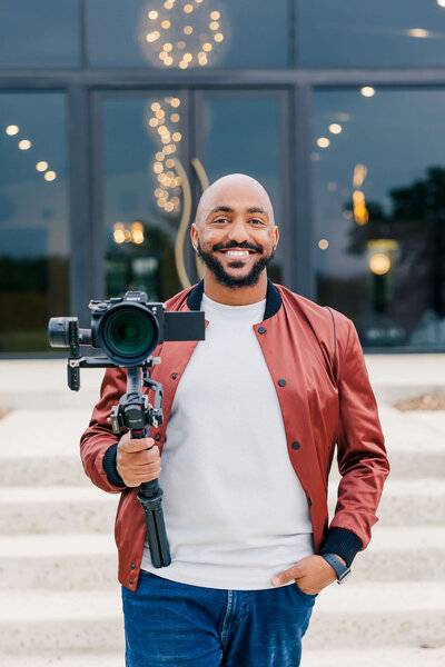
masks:
<path fill-rule="evenodd" d="M 370 540 L 376 511 L 389 474 L 377 404 L 356 329 L 342 318 L 338 336 L 339 430 L 337 460 L 342 480 L 334 519 L 322 552 L 343 556 L 348 565 Z M 346 327 L 345 327 L 346 323 Z"/>

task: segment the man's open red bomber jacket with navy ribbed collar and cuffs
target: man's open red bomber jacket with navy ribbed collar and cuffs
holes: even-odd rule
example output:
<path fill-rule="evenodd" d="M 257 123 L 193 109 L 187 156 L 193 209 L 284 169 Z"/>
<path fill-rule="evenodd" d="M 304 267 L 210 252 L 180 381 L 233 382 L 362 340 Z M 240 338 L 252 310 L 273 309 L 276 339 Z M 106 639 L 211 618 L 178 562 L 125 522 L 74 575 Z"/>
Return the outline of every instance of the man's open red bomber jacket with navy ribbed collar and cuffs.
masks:
<path fill-rule="evenodd" d="M 201 296 L 202 282 L 175 296 L 167 309 L 199 310 Z M 377 406 L 354 325 L 342 313 L 269 281 L 264 320 L 254 329 L 277 390 L 290 464 L 308 498 L 315 552 L 333 551 L 350 564 L 369 542 L 389 472 Z M 152 378 L 164 385 L 165 420 L 150 435 L 160 451 L 175 391 L 196 345 L 165 342 L 154 352 L 162 359 L 154 368 Z M 80 452 L 92 482 L 121 495 L 115 530 L 119 581 L 135 590 L 146 536 L 144 514 L 138 490 L 125 487 L 116 471 L 119 437 L 111 432 L 107 420 L 126 390 L 126 370 L 107 370 Z M 336 444 L 342 480 L 328 527 L 327 479 Z"/>

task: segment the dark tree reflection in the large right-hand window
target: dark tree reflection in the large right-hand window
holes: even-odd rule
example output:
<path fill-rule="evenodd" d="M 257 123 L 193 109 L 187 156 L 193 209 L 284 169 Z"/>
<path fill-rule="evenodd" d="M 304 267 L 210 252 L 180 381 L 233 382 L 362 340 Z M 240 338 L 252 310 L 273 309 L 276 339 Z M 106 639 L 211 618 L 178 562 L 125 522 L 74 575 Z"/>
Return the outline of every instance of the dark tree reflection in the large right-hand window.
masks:
<path fill-rule="evenodd" d="M 439 325 L 445 316 L 445 169 L 432 167 L 424 179 L 390 190 L 389 197 L 389 213 L 379 202 L 368 202 L 368 223 L 353 220 L 347 252 L 369 256 L 377 240 L 393 242 L 397 250 L 389 270 L 373 275 L 367 268 L 372 310 L 414 332 L 412 342 L 433 342 L 431 336 L 416 335 L 419 326 L 431 330 L 435 321 L 433 339 L 445 344 Z"/>

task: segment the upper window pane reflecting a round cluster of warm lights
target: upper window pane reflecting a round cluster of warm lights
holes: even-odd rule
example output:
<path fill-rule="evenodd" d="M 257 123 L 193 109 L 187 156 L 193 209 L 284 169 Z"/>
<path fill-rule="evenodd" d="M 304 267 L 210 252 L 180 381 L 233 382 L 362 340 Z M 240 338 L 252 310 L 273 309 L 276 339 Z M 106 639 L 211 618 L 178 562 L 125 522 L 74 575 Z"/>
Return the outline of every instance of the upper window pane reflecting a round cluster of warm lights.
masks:
<path fill-rule="evenodd" d="M 290 0 L 87 0 L 89 66 L 288 67 L 289 7 Z"/>

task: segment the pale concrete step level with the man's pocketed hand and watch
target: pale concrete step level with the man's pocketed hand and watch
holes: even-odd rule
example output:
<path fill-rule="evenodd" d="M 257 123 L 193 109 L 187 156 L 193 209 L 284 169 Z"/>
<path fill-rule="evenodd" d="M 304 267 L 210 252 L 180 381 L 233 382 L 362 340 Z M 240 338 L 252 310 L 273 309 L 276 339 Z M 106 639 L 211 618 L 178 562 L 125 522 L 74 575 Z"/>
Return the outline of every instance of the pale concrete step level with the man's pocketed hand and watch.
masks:
<path fill-rule="evenodd" d="M 353 570 L 354 583 L 445 580 L 445 526 L 377 526 Z M 0 589 L 11 583 L 20 590 L 110 589 L 116 579 L 117 548 L 111 531 L 9 535 L 0 540 Z"/>

